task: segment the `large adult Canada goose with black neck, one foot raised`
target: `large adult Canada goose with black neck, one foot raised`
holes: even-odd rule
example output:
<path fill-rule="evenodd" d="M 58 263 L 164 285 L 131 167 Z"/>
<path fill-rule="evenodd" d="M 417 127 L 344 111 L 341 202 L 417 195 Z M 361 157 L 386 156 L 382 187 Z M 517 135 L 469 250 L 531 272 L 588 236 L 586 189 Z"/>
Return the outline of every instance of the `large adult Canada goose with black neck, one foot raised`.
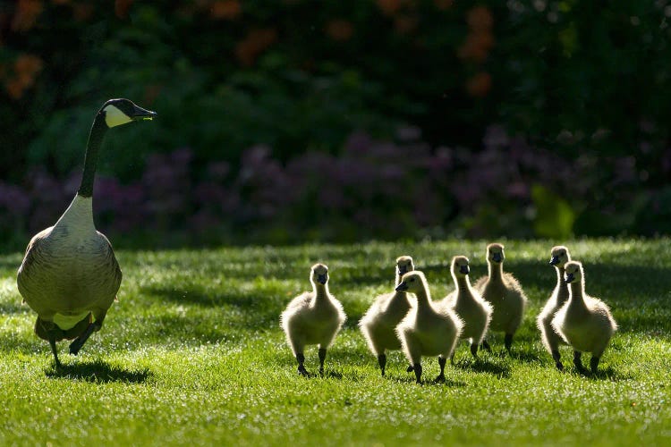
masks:
<path fill-rule="evenodd" d="M 26 249 L 16 283 L 23 302 L 38 313 L 35 333 L 49 342 L 56 367 L 61 362 L 55 343 L 74 339 L 70 353 L 77 355 L 90 334 L 102 327 L 121 285 L 112 246 L 93 222 L 93 180 L 101 143 L 108 129 L 154 116 L 128 99 L 103 104 L 91 126 L 77 194 L 55 225 L 33 236 Z"/>

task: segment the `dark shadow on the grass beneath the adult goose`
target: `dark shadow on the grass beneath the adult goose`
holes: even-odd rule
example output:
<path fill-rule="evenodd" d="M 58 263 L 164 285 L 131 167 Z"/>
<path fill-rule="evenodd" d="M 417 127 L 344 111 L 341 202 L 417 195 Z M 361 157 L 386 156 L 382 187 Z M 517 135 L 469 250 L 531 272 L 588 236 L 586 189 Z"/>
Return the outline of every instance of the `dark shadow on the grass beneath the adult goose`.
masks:
<path fill-rule="evenodd" d="M 110 365 L 105 360 L 99 359 L 69 365 L 63 364 L 60 368 L 52 367 L 45 374 L 50 378 L 83 380 L 93 384 L 108 384 L 111 382 L 143 384 L 152 376 L 149 368 L 126 369 Z"/>

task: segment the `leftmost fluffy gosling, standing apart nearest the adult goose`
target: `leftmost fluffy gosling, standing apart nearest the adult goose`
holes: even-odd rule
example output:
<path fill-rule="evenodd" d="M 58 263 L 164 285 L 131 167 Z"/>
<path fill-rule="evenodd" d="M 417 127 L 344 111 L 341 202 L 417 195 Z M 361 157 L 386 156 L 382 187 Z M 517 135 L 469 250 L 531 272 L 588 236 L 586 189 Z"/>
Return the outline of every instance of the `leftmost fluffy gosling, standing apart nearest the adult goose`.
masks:
<path fill-rule="evenodd" d="M 280 316 L 280 325 L 285 330 L 286 341 L 298 361 L 298 372 L 310 375 L 305 369 L 305 345 L 319 345 L 319 374 L 324 374 L 327 348 L 343 327 L 343 305 L 328 291 L 328 267 L 315 264 L 310 269 L 312 291 L 303 292 L 292 299 Z"/>

